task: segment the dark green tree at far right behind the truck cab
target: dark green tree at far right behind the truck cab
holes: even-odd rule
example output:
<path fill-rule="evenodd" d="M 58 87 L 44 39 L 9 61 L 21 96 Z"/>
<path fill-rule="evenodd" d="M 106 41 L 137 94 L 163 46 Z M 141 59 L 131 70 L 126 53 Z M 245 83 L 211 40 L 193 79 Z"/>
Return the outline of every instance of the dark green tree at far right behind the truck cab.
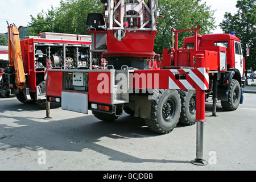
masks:
<path fill-rule="evenodd" d="M 256 1 L 240 0 L 237 1 L 237 13 L 225 13 L 224 20 L 220 27 L 224 33 L 230 34 L 235 31 L 236 36 L 241 40 L 243 55 L 246 55 L 246 43 L 250 44 L 250 56 L 245 57 L 246 69 L 256 70 Z"/>

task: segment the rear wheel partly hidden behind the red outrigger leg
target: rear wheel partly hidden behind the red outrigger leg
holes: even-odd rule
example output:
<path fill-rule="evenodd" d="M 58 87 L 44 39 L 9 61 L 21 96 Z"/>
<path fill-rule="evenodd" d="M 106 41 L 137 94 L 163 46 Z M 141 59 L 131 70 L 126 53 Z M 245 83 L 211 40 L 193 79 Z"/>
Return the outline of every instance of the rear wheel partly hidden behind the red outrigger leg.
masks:
<path fill-rule="evenodd" d="M 194 125 L 196 123 L 196 92 L 194 90 L 179 90 L 181 113 L 179 123 Z"/>

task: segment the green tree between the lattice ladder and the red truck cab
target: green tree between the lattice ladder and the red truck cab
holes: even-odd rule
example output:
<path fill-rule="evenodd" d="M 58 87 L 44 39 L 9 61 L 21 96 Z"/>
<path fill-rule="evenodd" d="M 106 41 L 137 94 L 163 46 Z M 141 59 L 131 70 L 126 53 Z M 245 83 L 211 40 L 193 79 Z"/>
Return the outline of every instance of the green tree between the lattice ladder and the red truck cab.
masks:
<path fill-rule="evenodd" d="M 158 19 L 158 34 L 155 38 L 154 51 L 163 53 L 163 49 L 170 48 L 172 42 L 171 28 L 176 30 L 192 29 L 201 26 L 199 34 L 208 34 L 214 30 L 214 11 L 201 0 L 161 0 L 159 11 L 162 18 Z M 181 32 L 179 34 L 179 48 L 187 36 L 192 36 L 194 32 Z"/>

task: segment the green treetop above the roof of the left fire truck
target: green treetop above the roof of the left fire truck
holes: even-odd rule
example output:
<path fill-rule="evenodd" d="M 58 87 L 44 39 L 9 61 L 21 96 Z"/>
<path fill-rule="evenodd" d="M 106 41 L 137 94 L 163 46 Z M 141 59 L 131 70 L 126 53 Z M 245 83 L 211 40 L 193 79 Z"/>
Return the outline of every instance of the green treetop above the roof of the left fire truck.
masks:
<path fill-rule="evenodd" d="M 65 34 L 88 34 L 86 19 L 88 13 L 102 13 L 102 3 L 99 0 L 61 0 L 60 7 L 42 11 L 33 17 L 31 15 L 30 34 L 40 32 L 58 32 Z"/>

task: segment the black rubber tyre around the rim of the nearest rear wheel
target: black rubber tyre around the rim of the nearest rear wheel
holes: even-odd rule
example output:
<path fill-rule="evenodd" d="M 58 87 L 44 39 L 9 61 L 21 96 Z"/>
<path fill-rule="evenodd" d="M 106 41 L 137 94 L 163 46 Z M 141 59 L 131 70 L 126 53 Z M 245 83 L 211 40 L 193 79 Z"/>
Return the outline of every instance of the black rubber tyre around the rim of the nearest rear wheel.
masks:
<path fill-rule="evenodd" d="M 175 100 L 175 114 L 170 122 L 166 122 L 162 116 L 163 103 L 172 97 Z M 177 126 L 180 117 L 180 97 L 177 90 L 155 89 L 153 93 L 153 100 L 151 100 L 150 119 L 144 119 L 148 129 L 159 133 L 170 133 Z"/>

